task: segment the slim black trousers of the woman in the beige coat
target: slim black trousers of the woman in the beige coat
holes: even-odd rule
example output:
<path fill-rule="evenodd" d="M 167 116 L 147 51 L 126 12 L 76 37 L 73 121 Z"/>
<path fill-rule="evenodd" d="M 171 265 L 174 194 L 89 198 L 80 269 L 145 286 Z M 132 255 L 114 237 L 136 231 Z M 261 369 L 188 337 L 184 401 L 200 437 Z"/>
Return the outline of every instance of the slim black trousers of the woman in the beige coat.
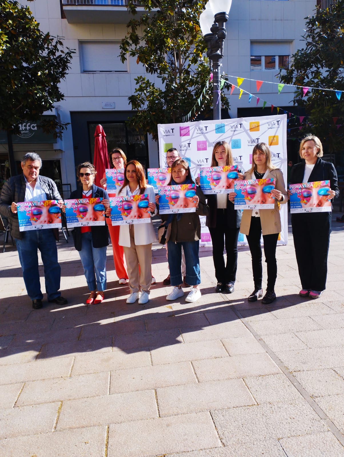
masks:
<path fill-rule="evenodd" d="M 260 218 L 251 218 L 249 234 L 246 235 L 247 243 L 252 255 L 252 271 L 254 287 L 262 288 L 263 267 L 262 267 L 262 248 L 260 239 L 262 236 L 262 226 Z M 263 235 L 265 262 L 268 269 L 267 290 L 274 290 L 277 277 L 276 246 L 278 233 Z"/>

